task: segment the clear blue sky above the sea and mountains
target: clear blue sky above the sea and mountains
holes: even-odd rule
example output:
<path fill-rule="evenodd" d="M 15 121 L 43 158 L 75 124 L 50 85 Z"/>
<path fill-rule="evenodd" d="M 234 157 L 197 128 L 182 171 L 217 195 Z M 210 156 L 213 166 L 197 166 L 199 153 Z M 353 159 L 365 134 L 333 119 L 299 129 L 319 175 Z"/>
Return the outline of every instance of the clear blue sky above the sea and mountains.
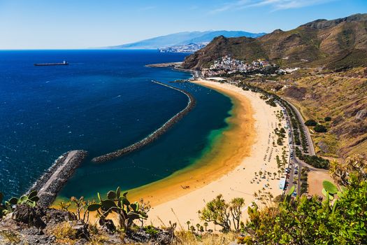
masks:
<path fill-rule="evenodd" d="M 367 0 L 0 0 L 0 49 L 98 48 L 180 31 L 289 30 Z"/>

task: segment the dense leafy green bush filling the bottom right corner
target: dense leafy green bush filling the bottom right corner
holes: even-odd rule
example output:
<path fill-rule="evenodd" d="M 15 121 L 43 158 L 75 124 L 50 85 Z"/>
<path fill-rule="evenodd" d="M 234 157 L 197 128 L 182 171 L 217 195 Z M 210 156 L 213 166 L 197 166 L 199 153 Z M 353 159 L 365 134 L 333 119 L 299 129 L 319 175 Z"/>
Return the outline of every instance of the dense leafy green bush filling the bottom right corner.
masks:
<path fill-rule="evenodd" d="M 338 200 L 287 198 L 277 207 L 249 207 L 247 244 L 366 244 L 367 181 L 354 181 Z M 252 242 L 256 241 L 256 242 Z"/>

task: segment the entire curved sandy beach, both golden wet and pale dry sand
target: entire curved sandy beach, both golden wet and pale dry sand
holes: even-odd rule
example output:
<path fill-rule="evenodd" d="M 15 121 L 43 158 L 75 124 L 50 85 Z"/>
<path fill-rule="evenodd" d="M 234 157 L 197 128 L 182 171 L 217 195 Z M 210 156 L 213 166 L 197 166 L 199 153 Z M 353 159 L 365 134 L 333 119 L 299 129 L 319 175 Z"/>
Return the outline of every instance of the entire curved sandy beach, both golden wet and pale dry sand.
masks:
<path fill-rule="evenodd" d="M 276 142 L 274 129 L 280 123 L 275 111 L 280 107 L 271 107 L 259 98 L 259 94 L 234 85 L 204 80 L 194 83 L 231 97 L 234 108 L 229 120 L 234 126 L 224 132 L 222 145 L 215 146 L 217 153 L 208 156 L 213 157 L 210 165 L 184 169 L 167 179 L 132 191 L 133 199 L 143 197 L 152 204 L 147 224 L 168 225 L 171 221 L 178 223 L 179 227 L 182 225 L 182 228 L 187 228 L 187 221 L 202 224 L 198 211 L 219 194 L 228 201 L 233 197 L 245 198 L 246 209 L 253 201 L 257 202 L 254 193 L 258 190 L 265 188 L 274 197 L 282 193 L 275 157 L 281 157 L 284 146 L 273 146 L 273 141 Z M 289 154 L 287 142 L 285 139 Z M 271 172 L 272 175 L 259 179 L 259 172 Z M 273 178 L 274 172 L 277 173 L 276 178 Z M 245 209 L 243 218 L 247 216 Z"/>

